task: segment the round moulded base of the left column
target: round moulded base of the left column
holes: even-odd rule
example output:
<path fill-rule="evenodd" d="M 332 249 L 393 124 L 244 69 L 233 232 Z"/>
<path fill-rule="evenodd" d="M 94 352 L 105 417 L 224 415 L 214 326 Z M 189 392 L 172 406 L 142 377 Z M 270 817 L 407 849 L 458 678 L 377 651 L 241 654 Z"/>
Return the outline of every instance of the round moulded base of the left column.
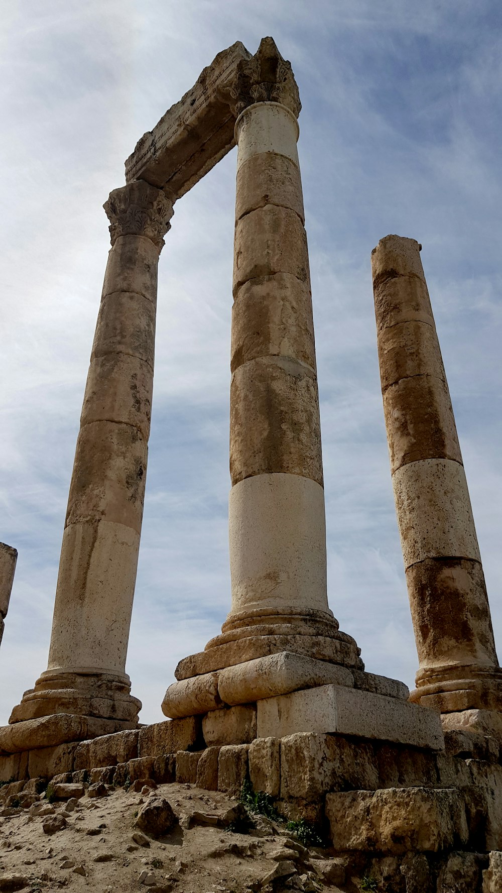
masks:
<path fill-rule="evenodd" d="M 125 673 L 114 675 L 85 669 L 74 672 L 47 670 L 37 680 L 34 689 L 25 691 L 21 704 L 13 708 L 9 724 L 64 714 L 67 717 L 71 715 L 108 722 L 111 731 L 136 729 L 140 709 L 141 702 L 130 695 L 130 679 Z M 96 734 L 103 735 L 105 732 L 98 731 Z"/>

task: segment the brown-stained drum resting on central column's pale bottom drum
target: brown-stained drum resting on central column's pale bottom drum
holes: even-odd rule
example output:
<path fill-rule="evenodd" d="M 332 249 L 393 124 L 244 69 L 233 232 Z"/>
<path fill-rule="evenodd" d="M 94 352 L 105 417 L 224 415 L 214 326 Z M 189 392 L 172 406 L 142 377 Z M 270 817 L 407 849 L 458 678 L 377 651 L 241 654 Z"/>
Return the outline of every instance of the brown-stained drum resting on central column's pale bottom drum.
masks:
<path fill-rule="evenodd" d="M 230 478 L 237 484 L 276 473 L 302 475 L 322 486 L 317 379 L 297 360 L 261 356 L 231 377 Z"/>

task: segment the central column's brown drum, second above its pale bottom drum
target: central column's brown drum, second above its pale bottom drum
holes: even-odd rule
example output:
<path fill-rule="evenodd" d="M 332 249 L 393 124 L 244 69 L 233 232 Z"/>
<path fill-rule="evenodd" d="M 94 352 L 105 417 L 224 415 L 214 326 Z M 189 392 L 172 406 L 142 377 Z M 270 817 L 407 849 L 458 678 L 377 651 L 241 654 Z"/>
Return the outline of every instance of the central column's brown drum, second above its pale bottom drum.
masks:
<path fill-rule="evenodd" d="M 230 369 L 260 356 L 289 356 L 315 371 L 308 283 L 275 273 L 244 283 L 232 307 Z"/>

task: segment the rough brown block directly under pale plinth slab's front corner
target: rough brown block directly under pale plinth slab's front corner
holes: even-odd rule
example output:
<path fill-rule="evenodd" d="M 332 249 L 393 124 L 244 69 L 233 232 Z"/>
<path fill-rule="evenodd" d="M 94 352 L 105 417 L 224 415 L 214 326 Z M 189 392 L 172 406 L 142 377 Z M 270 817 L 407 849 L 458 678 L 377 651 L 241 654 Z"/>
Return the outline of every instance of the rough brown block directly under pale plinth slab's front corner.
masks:
<path fill-rule="evenodd" d="M 314 801 L 330 790 L 377 787 L 373 748 L 367 742 L 312 732 L 280 741 L 280 796 L 285 800 Z"/>

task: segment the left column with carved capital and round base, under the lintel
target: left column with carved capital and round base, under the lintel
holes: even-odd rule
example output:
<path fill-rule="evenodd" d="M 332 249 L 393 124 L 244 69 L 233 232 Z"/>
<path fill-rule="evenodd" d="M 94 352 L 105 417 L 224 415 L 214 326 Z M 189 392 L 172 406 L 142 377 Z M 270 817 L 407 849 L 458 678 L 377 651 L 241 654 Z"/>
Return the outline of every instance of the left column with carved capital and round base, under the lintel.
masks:
<path fill-rule="evenodd" d="M 112 250 L 80 418 L 46 672 L 10 722 L 49 714 L 134 728 L 125 673 L 146 481 L 157 263 L 172 203 L 136 180 L 105 204 Z M 108 725 L 107 725 L 108 723 Z M 55 743 L 55 742 L 54 742 Z"/>

